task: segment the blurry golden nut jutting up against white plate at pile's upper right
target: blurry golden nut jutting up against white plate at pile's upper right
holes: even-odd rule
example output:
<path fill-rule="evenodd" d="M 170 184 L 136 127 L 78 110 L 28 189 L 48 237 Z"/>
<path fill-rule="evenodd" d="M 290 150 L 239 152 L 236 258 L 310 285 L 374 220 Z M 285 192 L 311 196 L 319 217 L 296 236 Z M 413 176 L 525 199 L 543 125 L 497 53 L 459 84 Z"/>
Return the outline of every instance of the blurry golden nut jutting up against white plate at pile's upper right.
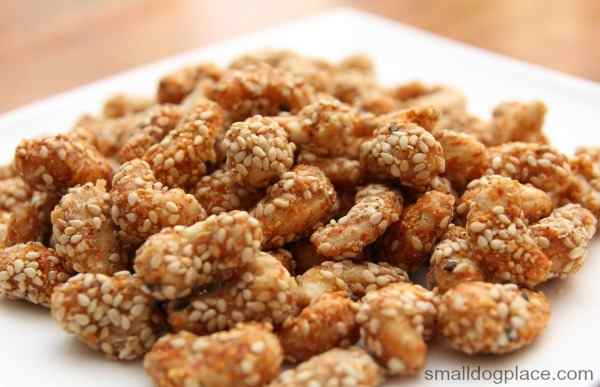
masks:
<path fill-rule="evenodd" d="M 494 109 L 481 141 L 487 146 L 514 141 L 546 144 L 542 129 L 547 110 L 541 101 L 502 103 Z"/>

